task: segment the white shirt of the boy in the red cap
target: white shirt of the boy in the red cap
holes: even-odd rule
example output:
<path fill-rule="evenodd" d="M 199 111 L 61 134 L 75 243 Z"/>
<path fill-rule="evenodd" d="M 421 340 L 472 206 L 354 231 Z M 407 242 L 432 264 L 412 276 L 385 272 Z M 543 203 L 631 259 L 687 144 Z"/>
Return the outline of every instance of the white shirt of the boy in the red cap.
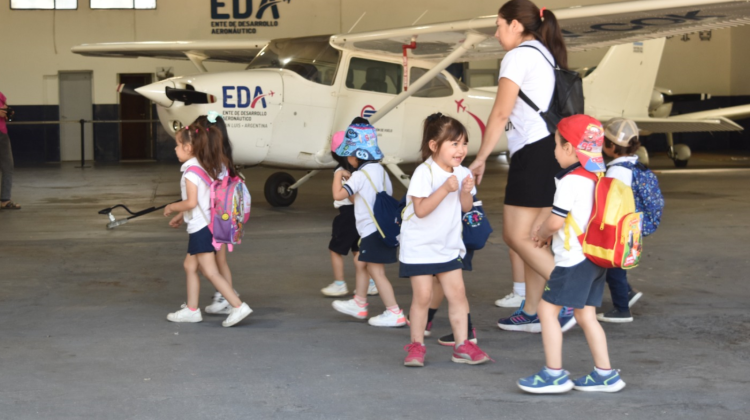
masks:
<path fill-rule="evenodd" d="M 586 232 L 591 219 L 591 209 L 594 206 L 596 184 L 593 180 L 580 175 L 565 176 L 580 166 L 580 163 L 576 163 L 563 169 L 555 176 L 557 190 L 555 191 L 555 200 L 552 203 L 552 213 L 562 218 L 571 213 L 573 220 L 581 228 L 581 231 Z M 568 229 L 570 250 L 565 249 L 565 225 L 552 235 L 552 252 L 555 254 L 556 266 L 572 267 L 586 259 L 573 227 L 570 226 Z"/>

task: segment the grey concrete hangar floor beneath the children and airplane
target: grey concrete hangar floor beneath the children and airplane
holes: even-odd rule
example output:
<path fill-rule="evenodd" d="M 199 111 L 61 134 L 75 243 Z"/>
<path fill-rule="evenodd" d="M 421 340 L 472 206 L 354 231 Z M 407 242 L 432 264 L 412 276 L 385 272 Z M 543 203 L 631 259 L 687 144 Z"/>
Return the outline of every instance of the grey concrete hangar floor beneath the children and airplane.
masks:
<path fill-rule="evenodd" d="M 669 167 L 663 157 L 654 162 Z M 664 221 L 630 277 L 644 292 L 635 322 L 604 325 L 627 388 L 563 396 L 516 387 L 542 366 L 541 337 L 496 327 L 511 312 L 493 306 L 511 287 L 499 165 L 480 186 L 496 233 L 465 276 L 480 344 L 497 363 L 450 362 L 450 349 L 436 343 L 449 332 L 443 307 L 423 369 L 401 365 L 408 329 L 355 321 L 319 293 L 331 281 L 327 174 L 292 207 L 274 209 L 262 193 L 273 170 L 246 170 L 253 213 L 230 264 L 255 312 L 227 329 L 217 316 L 165 319 L 185 300 L 183 229 L 152 214 L 107 231 L 97 214 L 116 203 L 172 201 L 177 166 L 19 168 L 14 199 L 24 208 L 0 212 L 0 418 L 746 419 L 750 164 L 747 155 L 691 161 L 717 165 L 735 169 L 660 175 Z M 396 265 L 387 272 L 408 308 L 409 283 Z M 347 261 L 350 284 L 352 274 Z M 212 292 L 203 283 L 202 306 Z M 370 302 L 372 313 L 382 311 L 379 298 Z M 574 376 L 591 370 L 580 328 L 565 335 L 564 360 Z"/>

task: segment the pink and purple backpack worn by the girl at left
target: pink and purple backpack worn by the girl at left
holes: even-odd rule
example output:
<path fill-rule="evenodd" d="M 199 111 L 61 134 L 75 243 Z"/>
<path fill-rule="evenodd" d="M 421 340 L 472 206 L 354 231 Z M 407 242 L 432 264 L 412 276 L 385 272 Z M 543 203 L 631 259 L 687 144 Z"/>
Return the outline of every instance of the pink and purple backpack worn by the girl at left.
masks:
<path fill-rule="evenodd" d="M 242 243 L 245 223 L 250 218 L 251 198 L 245 181 L 229 175 L 214 181 L 200 166 L 191 166 L 185 171 L 188 172 L 198 175 L 211 189 L 211 217 L 206 218 L 206 222 L 214 236 L 214 248 L 218 250 L 221 244 L 227 244 L 231 252 L 234 245 Z"/>

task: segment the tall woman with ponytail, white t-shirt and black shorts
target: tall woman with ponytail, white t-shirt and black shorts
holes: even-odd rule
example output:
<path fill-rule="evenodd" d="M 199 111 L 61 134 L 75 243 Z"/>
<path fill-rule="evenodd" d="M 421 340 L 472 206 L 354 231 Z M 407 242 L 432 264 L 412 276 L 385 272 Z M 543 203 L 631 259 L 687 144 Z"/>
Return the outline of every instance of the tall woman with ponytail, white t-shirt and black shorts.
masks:
<path fill-rule="evenodd" d="M 549 107 L 555 86 L 551 63 L 567 68 L 567 52 L 554 13 L 529 0 L 511 0 L 498 12 L 495 38 L 507 54 L 500 66 L 497 97 L 477 158 L 469 166 L 482 182 L 485 162 L 505 130 L 510 151 L 510 171 L 503 208 L 503 239 L 524 261 L 526 301 L 516 321 L 538 325 L 536 307 L 545 279 L 555 267 L 548 249 L 535 248 L 531 231 L 549 215 L 555 194 L 554 133 L 519 93 L 542 111 Z M 498 326 L 503 329 L 506 320 Z M 514 323 L 516 321 L 510 321 Z M 514 329 L 515 330 L 515 329 Z"/>

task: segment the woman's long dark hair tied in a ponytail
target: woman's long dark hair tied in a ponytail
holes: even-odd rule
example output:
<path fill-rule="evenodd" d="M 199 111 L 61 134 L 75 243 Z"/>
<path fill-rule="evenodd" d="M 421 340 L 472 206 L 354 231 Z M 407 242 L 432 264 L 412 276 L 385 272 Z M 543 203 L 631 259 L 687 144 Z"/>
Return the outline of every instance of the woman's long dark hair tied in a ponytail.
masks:
<path fill-rule="evenodd" d="M 523 25 L 524 35 L 534 35 L 534 38 L 552 53 L 557 65 L 564 69 L 568 68 L 568 50 L 565 48 L 565 39 L 557 17 L 551 10 L 545 8 L 540 15 L 539 8 L 532 1 L 510 0 L 500 8 L 497 14 L 505 19 L 508 25 L 517 20 Z"/>

